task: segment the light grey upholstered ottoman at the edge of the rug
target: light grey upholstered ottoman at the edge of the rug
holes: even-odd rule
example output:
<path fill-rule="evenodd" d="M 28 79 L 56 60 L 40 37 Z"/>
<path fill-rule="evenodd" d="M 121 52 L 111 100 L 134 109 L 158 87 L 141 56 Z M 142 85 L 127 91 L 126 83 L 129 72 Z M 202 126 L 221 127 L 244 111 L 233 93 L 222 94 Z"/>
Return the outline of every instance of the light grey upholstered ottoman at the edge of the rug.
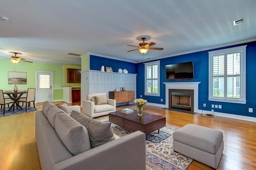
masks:
<path fill-rule="evenodd" d="M 188 124 L 173 133 L 173 150 L 214 169 L 224 149 L 223 133 L 216 129 Z"/>

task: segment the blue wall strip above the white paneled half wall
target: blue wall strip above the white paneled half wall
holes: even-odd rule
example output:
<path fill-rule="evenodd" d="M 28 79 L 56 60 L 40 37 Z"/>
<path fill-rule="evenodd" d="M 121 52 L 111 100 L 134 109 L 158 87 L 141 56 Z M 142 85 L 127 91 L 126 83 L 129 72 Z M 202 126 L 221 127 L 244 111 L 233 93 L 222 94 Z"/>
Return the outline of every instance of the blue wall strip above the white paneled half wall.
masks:
<path fill-rule="evenodd" d="M 105 70 L 106 67 L 112 67 L 113 72 L 118 72 L 119 68 L 121 68 L 122 70 L 124 70 L 125 68 L 126 70 L 128 70 L 128 73 L 136 74 L 135 63 L 90 55 L 90 70 L 100 70 L 101 66 L 105 66 Z"/>

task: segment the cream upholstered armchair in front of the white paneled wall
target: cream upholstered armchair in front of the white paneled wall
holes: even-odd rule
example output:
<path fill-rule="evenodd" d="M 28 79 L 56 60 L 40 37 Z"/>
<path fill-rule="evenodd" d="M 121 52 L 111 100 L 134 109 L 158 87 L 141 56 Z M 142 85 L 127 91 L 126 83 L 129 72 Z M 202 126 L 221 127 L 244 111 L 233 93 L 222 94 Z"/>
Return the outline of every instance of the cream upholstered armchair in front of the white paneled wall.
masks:
<path fill-rule="evenodd" d="M 106 96 L 106 93 L 88 94 L 86 96 L 86 101 L 82 101 L 82 113 L 90 117 L 99 117 L 103 115 L 108 115 L 108 113 L 116 111 L 116 100 L 107 99 L 106 97 L 106 100 L 104 98 L 102 99 L 104 95 Z M 99 102 L 99 98 L 102 99 L 101 102 Z M 106 101 L 106 103 L 102 101 Z"/>

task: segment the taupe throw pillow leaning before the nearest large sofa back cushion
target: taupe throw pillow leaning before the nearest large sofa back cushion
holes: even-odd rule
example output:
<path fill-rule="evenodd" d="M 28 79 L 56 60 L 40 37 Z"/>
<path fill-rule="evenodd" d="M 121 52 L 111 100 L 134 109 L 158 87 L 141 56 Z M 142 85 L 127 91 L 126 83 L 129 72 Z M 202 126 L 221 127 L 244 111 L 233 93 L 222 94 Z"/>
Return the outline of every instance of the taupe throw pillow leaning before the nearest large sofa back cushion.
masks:
<path fill-rule="evenodd" d="M 75 110 L 70 116 L 86 127 L 92 148 L 115 140 L 110 122 L 103 123 Z"/>

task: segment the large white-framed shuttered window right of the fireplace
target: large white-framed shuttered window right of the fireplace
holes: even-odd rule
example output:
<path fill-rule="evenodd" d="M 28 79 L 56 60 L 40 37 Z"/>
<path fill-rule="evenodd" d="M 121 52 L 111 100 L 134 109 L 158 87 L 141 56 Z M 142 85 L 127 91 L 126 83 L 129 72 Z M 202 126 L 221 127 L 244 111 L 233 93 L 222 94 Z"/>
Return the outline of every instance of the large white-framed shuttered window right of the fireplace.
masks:
<path fill-rule="evenodd" d="M 209 100 L 246 104 L 246 45 L 209 53 Z"/>

